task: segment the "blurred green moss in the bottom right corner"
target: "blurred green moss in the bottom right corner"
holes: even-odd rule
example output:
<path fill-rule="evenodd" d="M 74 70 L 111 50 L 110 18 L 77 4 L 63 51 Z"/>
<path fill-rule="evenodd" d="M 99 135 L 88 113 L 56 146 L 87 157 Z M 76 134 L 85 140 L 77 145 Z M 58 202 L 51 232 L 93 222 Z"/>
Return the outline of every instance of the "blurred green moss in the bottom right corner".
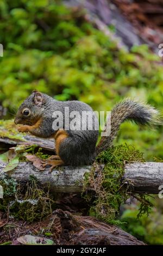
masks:
<path fill-rule="evenodd" d="M 142 215 L 137 219 L 139 214 L 139 202 L 130 205 L 124 205 L 121 220 L 125 231 L 135 236 L 137 239 L 151 245 L 162 245 L 163 243 L 163 204 L 158 195 L 149 195 L 148 200 L 154 204 L 149 216 Z"/>

